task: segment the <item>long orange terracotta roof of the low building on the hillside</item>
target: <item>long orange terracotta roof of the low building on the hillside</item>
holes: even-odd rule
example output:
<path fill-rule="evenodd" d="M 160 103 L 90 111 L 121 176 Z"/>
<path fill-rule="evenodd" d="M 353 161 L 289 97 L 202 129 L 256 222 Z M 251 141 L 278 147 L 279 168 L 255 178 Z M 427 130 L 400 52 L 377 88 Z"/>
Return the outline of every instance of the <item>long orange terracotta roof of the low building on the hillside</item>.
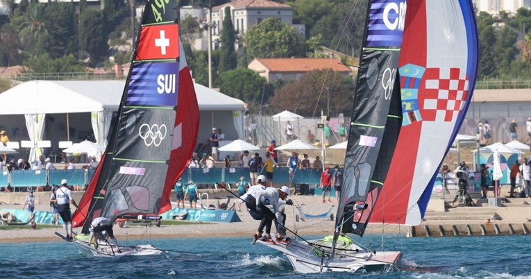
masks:
<path fill-rule="evenodd" d="M 257 58 L 256 60 L 269 71 L 314 71 L 317 69 L 351 71 L 334 58 Z"/>

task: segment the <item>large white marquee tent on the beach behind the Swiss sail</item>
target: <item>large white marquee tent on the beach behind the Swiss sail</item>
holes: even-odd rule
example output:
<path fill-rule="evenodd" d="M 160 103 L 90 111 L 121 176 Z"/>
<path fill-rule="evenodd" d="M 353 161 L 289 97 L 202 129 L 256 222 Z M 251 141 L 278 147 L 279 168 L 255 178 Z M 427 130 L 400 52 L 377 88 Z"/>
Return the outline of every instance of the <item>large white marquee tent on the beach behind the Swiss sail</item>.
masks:
<path fill-rule="evenodd" d="M 119 108 L 124 86 L 125 81 L 28 81 L 0 94 L 3 107 L 0 115 L 26 115 L 28 137 L 36 146 L 36 142 L 42 140 L 45 128 L 44 121 L 38 119 L 44 119 L 49 114 L 67 114 L 68 135 L 68 114 L 90 112 L 96 143 L 106 146 L 112 114 Z M 225 133 L 230 137 L 243 138 L 244 103 L 203 85 L 194 83 L 194 87 L 201 110 L 200 125 L 209 127 L 203 129 L 206 131 L 203 137 L 210 136 L 212 126 L 224 126 Z M 3 124 L 6 122 L 3 121 Z M 226 126 L 226 123 L 233 125 Z M 12 130 L 18 128 L 21 127 L 12 127 Z M 203 142 L 201 135 L 199 142 Z M 35 160 L 40 152 L 32 149 L 31 154 L 35 154 L 35 158 L 30 160 Z"/>

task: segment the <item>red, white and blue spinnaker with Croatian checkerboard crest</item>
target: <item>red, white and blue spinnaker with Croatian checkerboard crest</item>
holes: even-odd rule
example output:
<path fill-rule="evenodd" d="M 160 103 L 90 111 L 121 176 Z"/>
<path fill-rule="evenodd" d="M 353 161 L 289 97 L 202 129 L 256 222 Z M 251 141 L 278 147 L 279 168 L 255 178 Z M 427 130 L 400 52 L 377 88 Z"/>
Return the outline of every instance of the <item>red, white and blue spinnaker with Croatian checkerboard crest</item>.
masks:
<path fill-rule="evenodd" d="M 470 0 L 407 0 L 398 62 L 402 128 L 371 223 L 419 224 L 469 107 L 478 67 Z"/>

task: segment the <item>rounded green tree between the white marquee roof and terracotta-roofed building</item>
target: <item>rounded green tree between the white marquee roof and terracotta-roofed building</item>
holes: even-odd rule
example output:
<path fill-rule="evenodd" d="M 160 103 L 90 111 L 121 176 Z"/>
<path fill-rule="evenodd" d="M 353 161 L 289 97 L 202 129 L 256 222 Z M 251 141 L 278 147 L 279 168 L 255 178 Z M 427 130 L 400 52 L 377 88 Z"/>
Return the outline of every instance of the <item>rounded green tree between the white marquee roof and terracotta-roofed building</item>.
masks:
<path fill-rule="evenodd" d="M 219 90 L 228 96 L 249 103 L 251 109 L 256 110 L 262 90 L 267 84 L 265 78 L 247 68 L 236 68 L 225 71 L 219 76 Z"/>

